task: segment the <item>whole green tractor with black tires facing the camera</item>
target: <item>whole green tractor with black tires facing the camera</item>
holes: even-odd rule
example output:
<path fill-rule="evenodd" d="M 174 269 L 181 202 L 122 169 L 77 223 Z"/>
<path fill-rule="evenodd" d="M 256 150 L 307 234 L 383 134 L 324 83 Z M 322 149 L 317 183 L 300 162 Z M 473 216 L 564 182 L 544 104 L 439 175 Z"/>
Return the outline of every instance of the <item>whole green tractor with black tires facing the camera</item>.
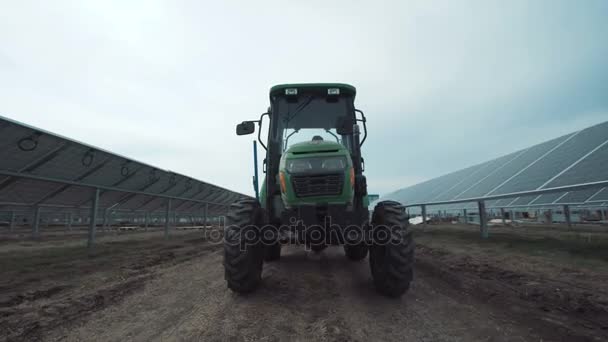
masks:
<path fill-rule="evenodd" d="M 355 87 L 341 83 L 277 85 L 270 89 L 268 112 L 237 125 L 237 135 L 258 125 L 266 177 L 258 196 L 256 167 L 256 199 L 232 204 L 226 217 L 224 269 L 231 290 L 255 290 L 264 262 L 278 260 L 288 242 L 315 252 L 342 245 L 353 261 L 369 253 L 380 293 L 396 297 L 409 288 L 414 244 L 403 207 L 380 202 L 370 222 L 361 157 L 367 127 L 355 94 Z"/>

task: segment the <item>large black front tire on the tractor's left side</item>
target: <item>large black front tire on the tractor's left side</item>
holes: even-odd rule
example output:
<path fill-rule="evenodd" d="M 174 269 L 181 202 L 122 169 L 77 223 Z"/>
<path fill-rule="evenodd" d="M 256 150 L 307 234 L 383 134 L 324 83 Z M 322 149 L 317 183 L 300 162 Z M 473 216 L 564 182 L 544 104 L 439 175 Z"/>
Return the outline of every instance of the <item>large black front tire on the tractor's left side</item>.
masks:
<path fill-rule="evenodd" d="M 255 199 L 232 204 L 226 216 L 224 278 L 234 292 L 252 292 L 262 279 L 264 246 L 259 239 L 259 227 L 263 217 L 263 209 Z"/>

